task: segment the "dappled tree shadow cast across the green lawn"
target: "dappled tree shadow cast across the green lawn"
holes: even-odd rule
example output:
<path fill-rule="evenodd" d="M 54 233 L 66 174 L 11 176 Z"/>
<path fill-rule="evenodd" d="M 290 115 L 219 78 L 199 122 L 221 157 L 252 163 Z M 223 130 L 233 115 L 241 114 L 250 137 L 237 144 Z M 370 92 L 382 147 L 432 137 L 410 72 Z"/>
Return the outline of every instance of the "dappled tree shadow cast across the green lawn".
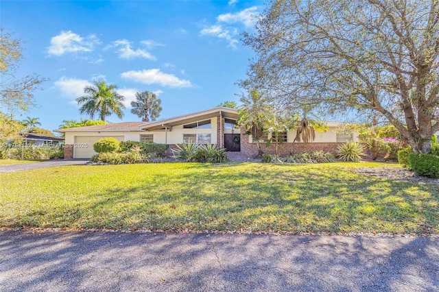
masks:
<path fill-rule="evenodd" d="M 252 164 L 180 168 L 184 171 L 174 169 L 167 175 L 142 168 L 128 187 L 117 186 L 117 178 L 109 176 L 102 181 L 103 187 L 90 191 L 86 203 L 69 202 L 56 210 L 41 203 L 41 210 L 3 221 L 3 225 L 38 227 L 45 226 L 43 222 L 47 227 L 133 230 L 439 232 L 436 185 L 372 178 L 331 167 L 325 171 Z"/>

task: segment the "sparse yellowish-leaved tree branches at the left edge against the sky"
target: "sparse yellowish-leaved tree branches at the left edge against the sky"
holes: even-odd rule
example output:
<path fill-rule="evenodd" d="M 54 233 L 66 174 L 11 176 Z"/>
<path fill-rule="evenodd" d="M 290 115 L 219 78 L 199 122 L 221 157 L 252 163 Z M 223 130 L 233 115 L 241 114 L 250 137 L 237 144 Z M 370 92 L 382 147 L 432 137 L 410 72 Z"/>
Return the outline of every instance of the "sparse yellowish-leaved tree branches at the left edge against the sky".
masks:
<path fill-rule="evenodd" d="M 0 108 L 6 112 L 27 110 L 34 106 L 34 90 L 45 79 L 32 74 L 17 79 L 16 66 L 23 58 L 21 40 L 5 34 L 0 28 Z"/>

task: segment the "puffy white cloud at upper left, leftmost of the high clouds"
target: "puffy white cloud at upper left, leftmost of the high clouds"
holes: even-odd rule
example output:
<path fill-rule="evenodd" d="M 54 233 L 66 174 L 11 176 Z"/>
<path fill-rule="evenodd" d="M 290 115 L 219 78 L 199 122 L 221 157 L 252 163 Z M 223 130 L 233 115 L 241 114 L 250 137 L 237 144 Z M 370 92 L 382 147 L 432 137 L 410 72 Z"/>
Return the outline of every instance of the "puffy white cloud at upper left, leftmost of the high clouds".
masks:
<path fill-rule="evenodd" d="M 93 51 L 93 47 L 99 43 L 99 39 L 93 34 L 83 38 L 69 30 L 68 32 L 60 32 L 58 36 L 51 38 L 50 46 L 47 47 L 47 53 L 49 55 L 61 56 L 64 53 Z"/>

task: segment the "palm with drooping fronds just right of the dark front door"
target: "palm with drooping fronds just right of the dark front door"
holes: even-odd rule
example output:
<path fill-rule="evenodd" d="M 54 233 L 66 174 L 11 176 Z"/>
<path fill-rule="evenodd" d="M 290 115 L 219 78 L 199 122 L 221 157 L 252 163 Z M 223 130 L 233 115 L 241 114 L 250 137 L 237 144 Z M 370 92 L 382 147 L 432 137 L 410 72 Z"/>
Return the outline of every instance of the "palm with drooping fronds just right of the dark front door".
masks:
<path fill-rule="evenodd" d="M 267 98 L 259 94 L 257 90 L 251 90 L 250 95 L 241 97 L 237 123 L 252 135 L 253 141 L 258 147 L 257 157 L 262 156 L 263 151 L 259 143 L 264 129 L 263 125 L 274 117 L 274 108 L 270 106 Z"/>

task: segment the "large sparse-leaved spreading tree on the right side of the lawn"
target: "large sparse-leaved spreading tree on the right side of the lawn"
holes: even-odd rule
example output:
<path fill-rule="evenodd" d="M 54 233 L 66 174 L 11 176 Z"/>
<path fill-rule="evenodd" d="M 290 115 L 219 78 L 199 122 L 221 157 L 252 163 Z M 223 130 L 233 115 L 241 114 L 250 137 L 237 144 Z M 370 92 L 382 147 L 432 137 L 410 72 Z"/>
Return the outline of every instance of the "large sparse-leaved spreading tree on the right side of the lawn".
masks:
<path fill-rule="evenodd" d="M 248 79 L 278 105 L 388 119 L 416 152 L 439 130 L 438 0 L 271 0 L 244 34 Z"/>

